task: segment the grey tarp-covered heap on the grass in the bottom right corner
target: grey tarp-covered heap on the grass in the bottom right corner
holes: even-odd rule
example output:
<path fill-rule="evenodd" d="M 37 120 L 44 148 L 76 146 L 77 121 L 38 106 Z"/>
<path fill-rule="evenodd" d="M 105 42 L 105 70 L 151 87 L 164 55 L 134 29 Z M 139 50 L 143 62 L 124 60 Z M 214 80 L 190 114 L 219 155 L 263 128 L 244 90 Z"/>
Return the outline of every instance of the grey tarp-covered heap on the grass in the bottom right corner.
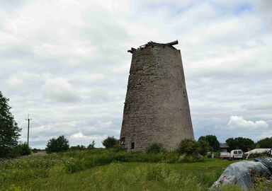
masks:
<path fill-rule="evenodd" d="M 254 161 L 240 161 L 227 166 L 220 178 L 210 187 L 217 190 L 221 185 L 234 184 L 247 190 L 253 185 L 252 174 L 271 175 L 272 158 L 256 158 Z"/>

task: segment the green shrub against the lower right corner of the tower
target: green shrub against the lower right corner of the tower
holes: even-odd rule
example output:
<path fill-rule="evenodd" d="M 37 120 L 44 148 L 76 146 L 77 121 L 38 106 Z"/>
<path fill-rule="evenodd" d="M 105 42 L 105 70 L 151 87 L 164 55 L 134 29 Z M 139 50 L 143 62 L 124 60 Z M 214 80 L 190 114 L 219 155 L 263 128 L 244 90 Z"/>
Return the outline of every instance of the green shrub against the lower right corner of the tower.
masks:
<path fill-rule="evenodd" d="M 179 154 L 197 155 L 199 154 L 200 149 L 197 141 L 183 139 L 181 144 L 179 144 L 179 149 L 177 151 Z"/>

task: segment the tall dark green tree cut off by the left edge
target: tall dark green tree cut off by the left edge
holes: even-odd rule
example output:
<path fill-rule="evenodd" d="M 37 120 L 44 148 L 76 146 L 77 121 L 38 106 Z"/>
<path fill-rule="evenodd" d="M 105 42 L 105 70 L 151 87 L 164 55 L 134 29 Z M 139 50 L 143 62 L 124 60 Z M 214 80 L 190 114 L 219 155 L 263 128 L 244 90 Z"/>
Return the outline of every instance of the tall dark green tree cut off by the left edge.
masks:
<path fill-rule="evenodd" d="M 8 98 L 0 91 L 0 158 L 6 158 L 8 152 L 18 145 L 21 129 L 10 112 Z"/>

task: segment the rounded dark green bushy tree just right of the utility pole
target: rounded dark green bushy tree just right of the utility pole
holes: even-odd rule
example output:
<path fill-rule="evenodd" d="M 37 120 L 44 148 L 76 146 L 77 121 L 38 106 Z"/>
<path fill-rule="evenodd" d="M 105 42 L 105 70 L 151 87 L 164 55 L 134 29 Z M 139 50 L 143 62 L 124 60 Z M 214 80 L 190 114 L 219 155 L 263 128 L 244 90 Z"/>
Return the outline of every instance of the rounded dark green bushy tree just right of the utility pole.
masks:
<path fill-rule="evenodd" d="M 68 151 L 69 149 L 69 141 L 64 137 L 64 135 L 52 138 L 48 141 L 45 151 L 50 154 L 54 152 L 63 152 Z"/>

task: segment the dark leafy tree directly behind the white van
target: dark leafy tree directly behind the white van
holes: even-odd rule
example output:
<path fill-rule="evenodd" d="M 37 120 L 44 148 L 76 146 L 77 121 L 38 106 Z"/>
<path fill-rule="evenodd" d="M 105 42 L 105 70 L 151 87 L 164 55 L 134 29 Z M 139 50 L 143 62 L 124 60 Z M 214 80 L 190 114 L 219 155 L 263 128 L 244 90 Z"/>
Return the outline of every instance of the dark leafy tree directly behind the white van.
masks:
<path fill-rule="evenodd" d="M 241 149 L 242 151 L 246 152 L 254 149 L 255 147 L 254 141 L 243 137 L 237 137 L 235 139 L 229 138 L 226 140 L 226 142 L 229 146 L 229 150 Z"/>

